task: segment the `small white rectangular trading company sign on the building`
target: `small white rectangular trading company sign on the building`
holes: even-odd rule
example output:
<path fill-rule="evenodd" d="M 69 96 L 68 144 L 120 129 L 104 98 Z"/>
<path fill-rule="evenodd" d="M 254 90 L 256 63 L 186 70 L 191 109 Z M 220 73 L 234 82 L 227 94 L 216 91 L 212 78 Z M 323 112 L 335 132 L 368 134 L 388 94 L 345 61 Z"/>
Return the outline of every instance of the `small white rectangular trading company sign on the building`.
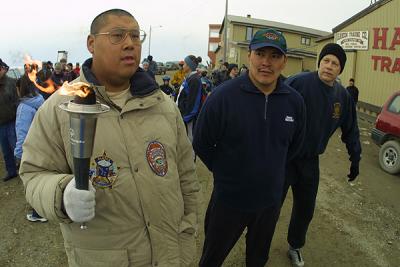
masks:
<path fill-rule="evenodd" d="M 335 40 L 345 50 L 368 50 L 368 31 L 337 32 Z"/>

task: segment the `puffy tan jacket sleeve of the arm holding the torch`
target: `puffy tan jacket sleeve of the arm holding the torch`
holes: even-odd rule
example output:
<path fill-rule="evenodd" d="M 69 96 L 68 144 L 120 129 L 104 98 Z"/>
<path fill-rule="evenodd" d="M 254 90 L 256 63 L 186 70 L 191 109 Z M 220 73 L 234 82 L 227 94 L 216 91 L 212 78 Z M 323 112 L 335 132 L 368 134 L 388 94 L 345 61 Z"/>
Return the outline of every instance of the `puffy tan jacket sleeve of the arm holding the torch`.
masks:
<path fill-rule="evenodd" d="M 42 216 L 71 222 L 62 211 L 63 191 L 72 179 L 61 136 L 60 112 L 55 95 L 38 110 L 23 145 L 20 177 L 29 204 Z M 58 110 L 57 110 L 58 109 Z M 65 114 L 65 116 L 68 116 Z M 68 119 L 62 120 L 68 123 Z"/>

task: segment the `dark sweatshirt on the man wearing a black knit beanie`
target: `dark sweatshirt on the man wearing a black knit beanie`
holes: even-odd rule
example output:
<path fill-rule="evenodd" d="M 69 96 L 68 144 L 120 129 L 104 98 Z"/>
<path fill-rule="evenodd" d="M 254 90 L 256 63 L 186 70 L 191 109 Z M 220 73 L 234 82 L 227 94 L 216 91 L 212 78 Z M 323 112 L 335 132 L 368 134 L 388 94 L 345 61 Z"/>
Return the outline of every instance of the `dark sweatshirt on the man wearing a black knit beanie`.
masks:
<path fill-rule="evenodd" d="M 303 96 L 306 104 L 306 138 L 299 157 L 312 158 L 324 153 L 329 138 L 340 127 L 350 160 L 360 161 L 357 112 L 346 89 L 337 82 L 333 87 L 326 85 L 317 72 L 300 73 L 285 82 Z"/>

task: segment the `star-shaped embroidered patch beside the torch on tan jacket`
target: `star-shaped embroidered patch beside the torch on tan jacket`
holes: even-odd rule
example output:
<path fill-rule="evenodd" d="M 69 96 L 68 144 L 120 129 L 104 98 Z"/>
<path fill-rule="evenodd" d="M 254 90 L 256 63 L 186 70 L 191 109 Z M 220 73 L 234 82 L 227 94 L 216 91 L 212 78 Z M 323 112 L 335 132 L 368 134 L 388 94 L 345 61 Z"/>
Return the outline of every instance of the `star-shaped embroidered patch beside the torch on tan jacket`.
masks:
<path fill-rule="evenodd" d="M 95 188 L 112 188 L 117 179 L 117 166 L 105 151 L 90 164 L 89 177 Z"/>

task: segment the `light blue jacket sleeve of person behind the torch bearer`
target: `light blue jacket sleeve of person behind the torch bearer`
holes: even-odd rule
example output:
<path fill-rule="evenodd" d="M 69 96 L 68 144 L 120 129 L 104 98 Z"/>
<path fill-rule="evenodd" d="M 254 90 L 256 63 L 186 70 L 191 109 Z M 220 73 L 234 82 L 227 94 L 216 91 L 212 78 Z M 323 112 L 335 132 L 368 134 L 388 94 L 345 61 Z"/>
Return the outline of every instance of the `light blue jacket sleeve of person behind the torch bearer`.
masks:
<path fill-rule="evenodd" d="M 15 119 L 15 133 L 17 135 L 17 143 L 15 145 L 14 156 L 18 159 L 22 157 L 22 144 L 28 134 L 29 127 L 32 124 L 33 117 L 35 116 L 33 108 L 25 106 L 21 103 L 17 109 L 17 117 Z"/>

